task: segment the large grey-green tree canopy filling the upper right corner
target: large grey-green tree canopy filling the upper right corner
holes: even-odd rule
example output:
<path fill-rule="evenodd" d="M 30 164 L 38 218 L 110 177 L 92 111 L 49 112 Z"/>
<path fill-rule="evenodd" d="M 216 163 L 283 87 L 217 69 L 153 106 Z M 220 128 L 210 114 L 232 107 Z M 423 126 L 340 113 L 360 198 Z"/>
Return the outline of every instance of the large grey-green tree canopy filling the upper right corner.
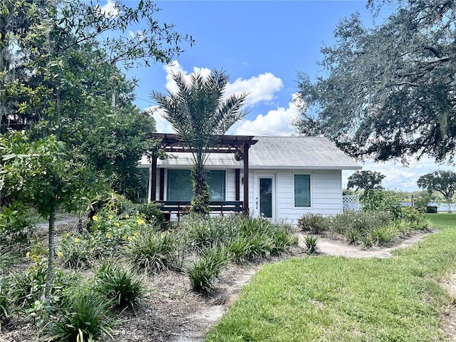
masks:
<path fill-rule="evenodd" d="M 321 49 L 326 77 L 312 83 L 299 73 L 301 95 L 317 117 L 304 113 L 298 131 L 322 133 L 353 157 L 452 160 L 455 7 L 444 0 L 395 4 L 372 28 L 359 14 L 338 24 L 336 43 Z"/>

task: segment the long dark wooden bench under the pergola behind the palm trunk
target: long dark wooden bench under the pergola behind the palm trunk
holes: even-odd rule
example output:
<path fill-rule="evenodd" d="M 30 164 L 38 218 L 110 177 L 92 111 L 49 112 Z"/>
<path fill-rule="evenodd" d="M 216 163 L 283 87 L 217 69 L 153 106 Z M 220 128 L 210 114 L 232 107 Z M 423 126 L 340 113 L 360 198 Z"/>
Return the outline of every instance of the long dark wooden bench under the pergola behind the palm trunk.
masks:
<path fill-rule="evenodd" d="M 191 201 L 157 201 L 158 207 L 162 210 L 166 220 L 170 220 L 171 214 L 177 215 L 177 221 L 180 220 L 182 213 L 191 205 Z M 211 213 L 224 214 L 227 212 L 242 212 L 244 202 L 242 201 L 211 201 L 209 202 L 209 211 Z"/>

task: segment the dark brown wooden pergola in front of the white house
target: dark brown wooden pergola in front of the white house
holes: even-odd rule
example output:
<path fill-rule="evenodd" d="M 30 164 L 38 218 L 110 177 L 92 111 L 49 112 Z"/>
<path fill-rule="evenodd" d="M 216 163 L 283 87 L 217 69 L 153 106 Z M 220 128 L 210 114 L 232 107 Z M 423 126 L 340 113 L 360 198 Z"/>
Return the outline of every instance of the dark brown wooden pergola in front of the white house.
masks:
<path fill-rule="evenodd" d="M 192 152 L 192 147 L 183 142 L 178 134 L 167 133 L 151 133 L 150 138 L 160 139 L 160 147 L 165 152 Z M 249 211 L 249 148 L 256 144 L 258 140 L 250 135 L 223 135 L 219 138 L 217 145 L 209 147 L 209 153 L 233 153 L 236 160 L 244 162 L 244 211 Z M 165 182 L 165 169 L 160 169 L 160 193 L 159 200 L 164 199 L 164 182 Z M 157 200 L 157 157 L 152 158 L 152 165 L 150 166 L 151 187 L 150 199 L 152 202 Z M 236 182 L 236 200 L 239 200 L 239 177 L 240 171 L 236 169 L 235 182 Z"/>

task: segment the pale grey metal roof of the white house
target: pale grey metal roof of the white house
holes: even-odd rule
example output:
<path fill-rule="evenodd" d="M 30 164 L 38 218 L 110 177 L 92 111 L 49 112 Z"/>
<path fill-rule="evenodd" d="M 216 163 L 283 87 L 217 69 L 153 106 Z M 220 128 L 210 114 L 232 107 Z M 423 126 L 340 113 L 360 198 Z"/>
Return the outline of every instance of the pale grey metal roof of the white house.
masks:
<path fill-rule="evenodd" d="M 326 138 L 321 137 L 255 137 L 258 142 L 249 149 L 249 168 L 306 169 L 306 170 L 361 170 L 361 165 Z M 172 153 L 176 158 L 158 160 L 159 167 L 187 167 L 193 164 L 191 153 Z M 143 160 L 142 165 L 150 165 Z M 207 167 L 242 167 L 234 154 L 211 153 Z"/>

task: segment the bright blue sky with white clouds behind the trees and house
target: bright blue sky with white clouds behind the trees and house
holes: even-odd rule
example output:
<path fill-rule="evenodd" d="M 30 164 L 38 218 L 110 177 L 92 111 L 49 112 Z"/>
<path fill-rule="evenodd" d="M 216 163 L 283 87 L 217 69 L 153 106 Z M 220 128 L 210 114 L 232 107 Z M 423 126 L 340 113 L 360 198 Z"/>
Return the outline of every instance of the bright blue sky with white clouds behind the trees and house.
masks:
<path fill-rule="evenodd" d="M 133 1 L 132 1 L 133 2 Z M 173 88 L 171 71 L 187 75 L 195 70 L 209 73 L 224 69 L 230 76 L 228 91 L 250 93 L 249 115 L 230 130 L 238 135 L 292 135 L 291 122 L 299 114 L 294 102 L 296 75 L 321 75 L 320 49 L 331 46 L 338 21 L 355 12 L 371 25 L 373 18 L 366 1 L 155 1 L 160 23 L 175 24 L 180 33 L 190 34 L 195 45 L 182 43 L 185 50 L 172 65 L 160 63 L 138 68 L 129 75 L 138 79 L 136 104 L 141 109 L 154 105 L 149 93 Z M 113 6 L 105 3 L 105 9 Z M 157 131 L 171 132 L 160 113 L 154 114 Z M 393 162 L 366 162 L 364 170 L 386 175 L 383 185 L 390 189 L 418 190 L 420 175 L 449 167 L 432 160 L 411 162 L 404 168 Z M 344 182 L 349 172 L 344 172 Z"/>

